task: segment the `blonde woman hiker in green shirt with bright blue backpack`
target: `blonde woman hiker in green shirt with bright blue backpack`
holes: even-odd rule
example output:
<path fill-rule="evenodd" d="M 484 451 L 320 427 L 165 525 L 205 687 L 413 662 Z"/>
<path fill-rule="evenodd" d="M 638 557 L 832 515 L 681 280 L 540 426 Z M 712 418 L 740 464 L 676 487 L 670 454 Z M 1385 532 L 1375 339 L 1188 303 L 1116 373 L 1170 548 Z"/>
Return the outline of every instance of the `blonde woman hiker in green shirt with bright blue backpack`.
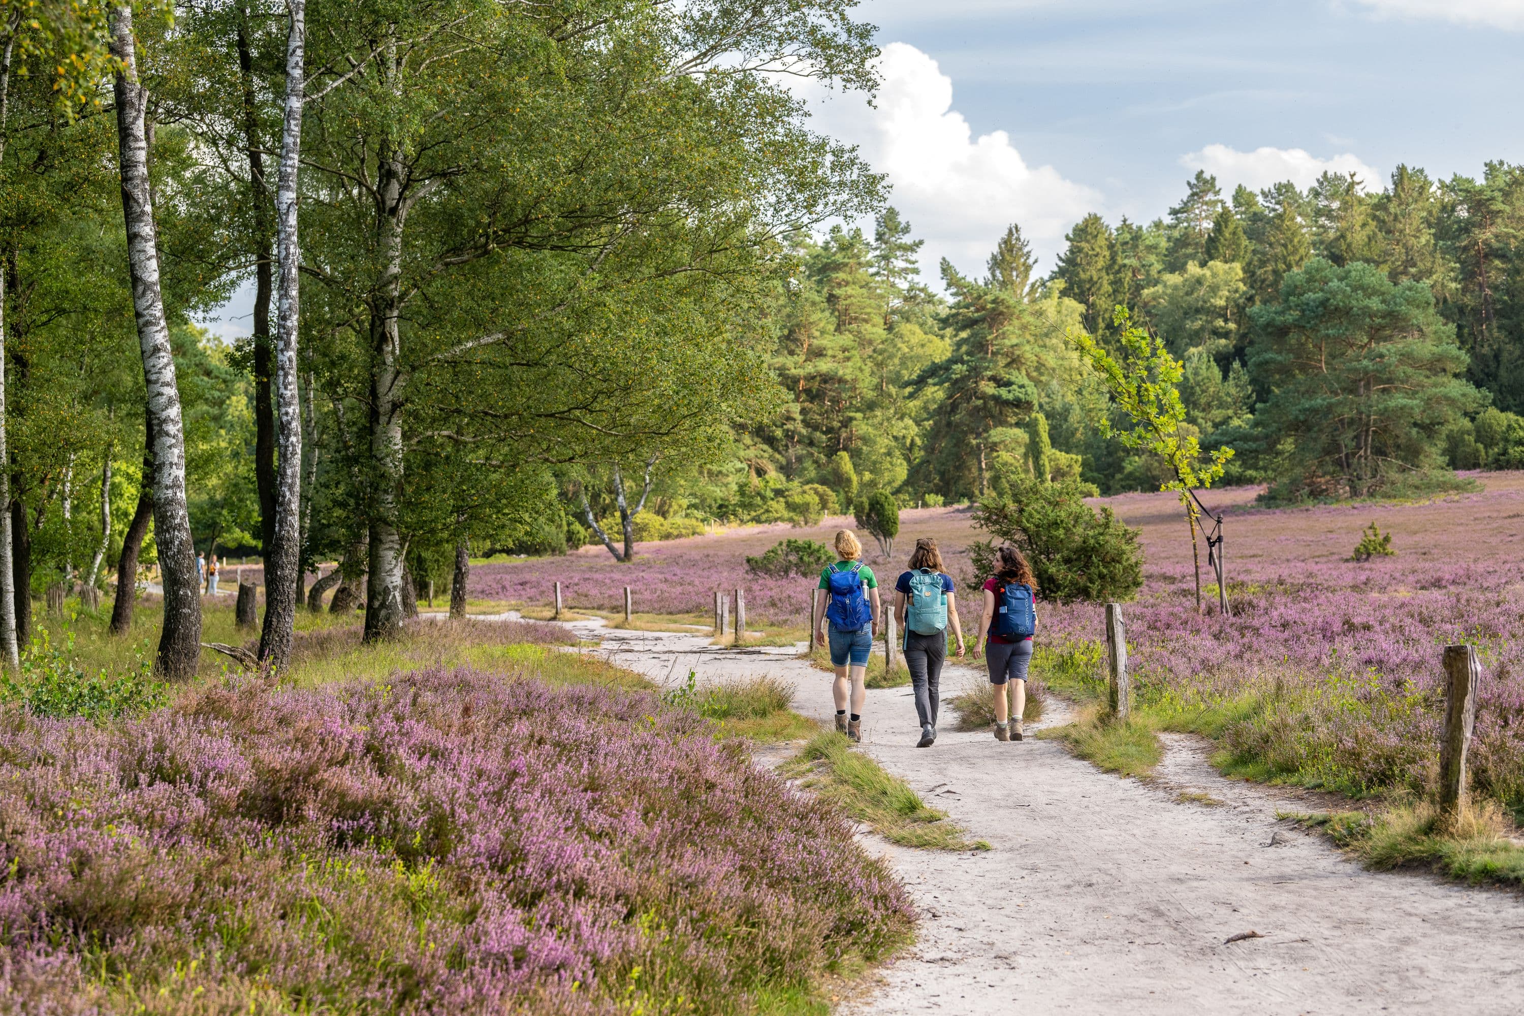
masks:
<path fill-rule="evenodd" d="M 863 740 L 863 702 L 867 699 L 867 657 L 873 652 L 873 637 L 878 635 L 879 602 L 878 579 L 864 565 L 863 544 L 852 530 L 837 533 L 834 565 L 820 573 L 815 594 L 820 632 L 818 640 L 831 646 L 831 666 L 837 669 L 831 692 L 837 701 L 837 730 L 852 740 Z M 863 588 L 867 586 L 864 594 Z M 850 682 L 849 682 L 850 676 Z M 847 716 L 850 698 L 852 714 Z"/>

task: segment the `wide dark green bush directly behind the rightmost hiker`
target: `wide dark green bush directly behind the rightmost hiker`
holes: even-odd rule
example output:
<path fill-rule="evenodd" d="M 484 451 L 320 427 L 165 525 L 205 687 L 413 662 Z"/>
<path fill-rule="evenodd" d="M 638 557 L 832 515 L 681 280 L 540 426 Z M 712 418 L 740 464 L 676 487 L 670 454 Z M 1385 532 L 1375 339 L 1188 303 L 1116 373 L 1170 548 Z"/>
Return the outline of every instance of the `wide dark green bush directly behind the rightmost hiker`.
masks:
<path fill-rule="evenodd" d="M 1021 548 L 1032 562 L 1038 594 L 1049 600 L 1131 600 L 1143 586 L 1138 530 L 1123 526 L 1111 509 L 1085 504 L 1074 480 L 1042 483 L 1010 477 L 1009 497 L 986 498 L 974 509 L 974 524 Z M 972 544 L 977 582 L 994 574 L 995 541 Z"/>

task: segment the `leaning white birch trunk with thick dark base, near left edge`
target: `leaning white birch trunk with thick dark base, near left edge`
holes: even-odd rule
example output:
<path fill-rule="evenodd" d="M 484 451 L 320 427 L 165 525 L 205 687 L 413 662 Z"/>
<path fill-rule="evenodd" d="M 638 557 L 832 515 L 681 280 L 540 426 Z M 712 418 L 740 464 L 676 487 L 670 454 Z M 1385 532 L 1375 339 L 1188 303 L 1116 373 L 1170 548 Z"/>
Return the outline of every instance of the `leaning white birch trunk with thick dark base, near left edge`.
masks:
<path fill-rule="evenodd" d="M 186 510 L 184 423 L 158 285 L 158 238 L 148 189 L 148 131 L 143 122 L 148 102 L 137 79 L 131 5 L 116 3 L 110 21 L 111 55 L 119 61 L 114 91 L 126 260 L 148 413 L 154 420 L 154 541 L 165 586 L 165 626 L 155 669 L 166 678 L 190 678 L 201 657 L 201 593 Z"/>

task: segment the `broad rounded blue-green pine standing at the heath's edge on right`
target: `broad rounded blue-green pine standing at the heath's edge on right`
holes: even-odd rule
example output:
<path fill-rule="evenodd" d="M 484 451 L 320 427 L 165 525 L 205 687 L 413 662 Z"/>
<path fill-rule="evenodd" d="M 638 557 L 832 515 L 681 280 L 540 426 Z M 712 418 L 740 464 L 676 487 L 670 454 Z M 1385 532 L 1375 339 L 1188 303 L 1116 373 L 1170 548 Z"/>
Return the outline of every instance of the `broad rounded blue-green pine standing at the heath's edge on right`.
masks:
<path fill-rule="evenodd" d="M 1315 259 L 1251 311 L 1254 427 L 1291 439 L 1276 497 L 1364 498 L 1436 474 L 1445 431 L 1483 402 L 1428 286 Z"/>

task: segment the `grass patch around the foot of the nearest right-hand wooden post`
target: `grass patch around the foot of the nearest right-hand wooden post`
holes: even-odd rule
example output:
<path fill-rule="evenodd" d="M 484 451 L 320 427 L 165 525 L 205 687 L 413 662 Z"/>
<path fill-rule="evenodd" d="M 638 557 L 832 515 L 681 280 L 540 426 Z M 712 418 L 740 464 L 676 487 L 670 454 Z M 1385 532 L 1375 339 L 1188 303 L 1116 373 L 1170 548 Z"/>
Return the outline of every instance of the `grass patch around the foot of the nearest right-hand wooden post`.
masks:
<path fill-rule="evenodd" d="M 1507 835 L 1494 801 L 1481 801 L 1446 818 L 1430 801 L 1399 803 L 1376 813 L 1283 812 L 1306 829 L 1329 836 L 1378 871 L 1428 868 L 1471 883 L 1524 885 L 1524 845 Z"/>

